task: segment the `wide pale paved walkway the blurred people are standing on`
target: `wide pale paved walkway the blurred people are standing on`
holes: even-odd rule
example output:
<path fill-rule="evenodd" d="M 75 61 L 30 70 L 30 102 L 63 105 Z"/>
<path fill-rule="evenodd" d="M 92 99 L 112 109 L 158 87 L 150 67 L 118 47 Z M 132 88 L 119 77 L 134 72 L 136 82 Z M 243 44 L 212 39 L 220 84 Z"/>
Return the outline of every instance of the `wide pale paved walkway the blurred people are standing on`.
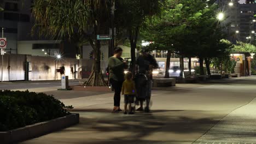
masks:
<path fill-rule="evenodd" d="M 256 142 L 255 84 L 255 77 L 248 77 L 158 88 L 152 112 L 136 115 L 112 113 L 112 93 L 49 91 L 75 107 L 80 123 L 22 143 Z"/>

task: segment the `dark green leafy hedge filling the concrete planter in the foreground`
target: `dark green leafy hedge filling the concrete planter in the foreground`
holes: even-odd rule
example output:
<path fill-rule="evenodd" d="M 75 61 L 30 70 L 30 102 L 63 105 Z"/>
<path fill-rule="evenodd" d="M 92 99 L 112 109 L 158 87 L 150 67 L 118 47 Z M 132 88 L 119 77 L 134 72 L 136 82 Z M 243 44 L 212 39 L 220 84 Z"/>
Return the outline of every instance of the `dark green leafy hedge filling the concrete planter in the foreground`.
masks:
<path fill-rule="evenodd" d="M 0 91 L 0 131 L 24 127 L 69 114 L 53 95 L 34 92 Z"/>

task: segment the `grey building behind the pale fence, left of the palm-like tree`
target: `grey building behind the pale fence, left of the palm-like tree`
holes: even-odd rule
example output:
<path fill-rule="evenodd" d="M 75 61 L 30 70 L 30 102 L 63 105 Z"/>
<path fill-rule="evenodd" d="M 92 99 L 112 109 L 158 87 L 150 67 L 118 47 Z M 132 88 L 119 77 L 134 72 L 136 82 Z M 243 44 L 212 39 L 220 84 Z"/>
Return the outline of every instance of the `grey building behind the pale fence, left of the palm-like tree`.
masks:
<path fill-rule="evenodd" d="M 7 53 L 18 53 L 33 56 L 54 56 L 64 51 L 61 40 L 50 40 L 31 36 L 33 26 L 32 0 L 1 0 L 0 30 L 7 38 Z M 2 37 L 2 35 L 0 36 Z M 75 54 L 74 54 L 75 55 Z"/>

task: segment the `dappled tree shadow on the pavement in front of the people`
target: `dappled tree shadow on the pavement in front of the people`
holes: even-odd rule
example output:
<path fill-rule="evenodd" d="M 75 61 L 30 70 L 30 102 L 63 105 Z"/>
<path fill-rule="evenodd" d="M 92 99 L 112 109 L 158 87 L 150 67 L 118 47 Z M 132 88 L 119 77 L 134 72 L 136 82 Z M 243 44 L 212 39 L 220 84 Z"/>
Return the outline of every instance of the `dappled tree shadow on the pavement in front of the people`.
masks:
<path fill-rule="evenodd" d="M 77 112 L 80 113 L 80 123 L 75 126 L 75 129 L 66 129 L 67 131 L 89 130 L 97 132 L 97 135 L 113 133 L 106 139 L 102 138 L 111 143 L 113 141 L 121 143 L 164 143 L 169 141 L 172 143 L 168 134 L 203 134 L 218 122 L 214 120 L 215 118 L 197 119 L 173 114 L 184 112 L 183 110 L 153 110 L 150 113 L 137 112 L 136 115 L 110 113 L 109 110 L 104 109 L 79 110 Z M 117 135 L 116 132 L 119 131 L 125 134 Z M 106 141 L 97 141 L 96 143 L 106 143 Z"/>

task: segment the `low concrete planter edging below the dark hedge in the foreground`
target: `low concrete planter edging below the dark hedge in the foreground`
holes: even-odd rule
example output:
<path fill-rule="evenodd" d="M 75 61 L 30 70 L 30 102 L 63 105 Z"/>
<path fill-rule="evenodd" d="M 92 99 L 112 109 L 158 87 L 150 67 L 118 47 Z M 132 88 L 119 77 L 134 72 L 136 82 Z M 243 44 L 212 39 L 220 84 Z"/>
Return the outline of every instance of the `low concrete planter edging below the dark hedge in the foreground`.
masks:
<path fill-rule="evenodd" d="M 63 129 L 79 123 L 79 114 L 72 113 L 65 117 L 52 119 L 50 121 L 27 125 L 26 127 L 0 132 L 1 143 L 15 143 L 42 136 L 51 131 Z"/>

